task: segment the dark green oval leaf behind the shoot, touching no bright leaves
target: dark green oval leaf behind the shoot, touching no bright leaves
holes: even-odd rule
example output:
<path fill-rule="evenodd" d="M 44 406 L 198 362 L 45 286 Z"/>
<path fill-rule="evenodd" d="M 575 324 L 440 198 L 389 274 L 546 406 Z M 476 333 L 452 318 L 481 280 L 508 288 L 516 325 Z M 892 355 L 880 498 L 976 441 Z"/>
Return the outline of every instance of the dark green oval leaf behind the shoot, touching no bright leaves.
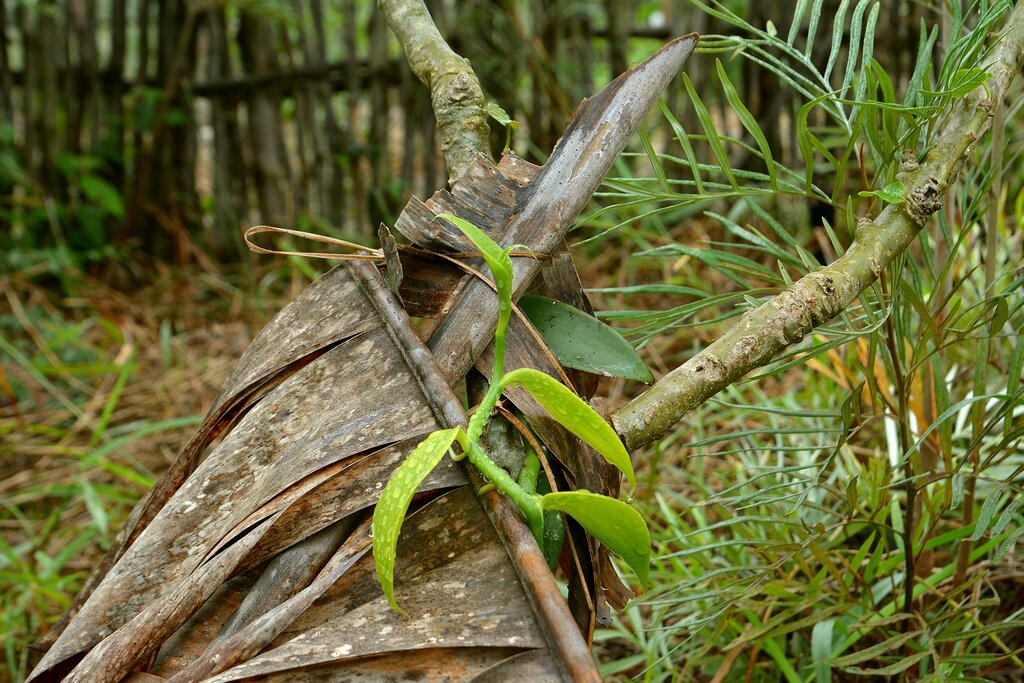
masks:
<path fill-rule="evenodd" d="M 653 381 L 633 346 L 593 315 L 532 294 L 519 299 L 519 308 L 562 366 L 606 377 Z"/>

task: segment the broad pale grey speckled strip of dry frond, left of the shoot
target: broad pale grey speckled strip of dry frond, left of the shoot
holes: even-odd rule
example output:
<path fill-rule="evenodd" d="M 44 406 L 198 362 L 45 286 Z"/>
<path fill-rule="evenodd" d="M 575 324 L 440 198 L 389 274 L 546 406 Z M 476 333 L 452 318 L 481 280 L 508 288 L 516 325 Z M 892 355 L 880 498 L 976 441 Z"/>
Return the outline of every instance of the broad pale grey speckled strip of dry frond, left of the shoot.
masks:
<path fill-rule="evenodd" d="M 290 483 L 349 455 L 431 431 L 433 416 L 385 352 L 385 339 L 380 331 L 335 347 L 257 403 L 112 568 L 80 617 L 89 623 L 102 614 L 108 628 L 117 628 L 231 541 L 232 528 L 248 524 L 251 511 Z M 373 386 L 348 381 L 378 371 Z M 182 528 L 187 544 L 179 545 Z M 138 566 L 150 569 L 139 574 Z M 97 635 L 80 634 L 68 645 L 87 647 Z M 51 653 L 60 651 L 58 642 Z"/>

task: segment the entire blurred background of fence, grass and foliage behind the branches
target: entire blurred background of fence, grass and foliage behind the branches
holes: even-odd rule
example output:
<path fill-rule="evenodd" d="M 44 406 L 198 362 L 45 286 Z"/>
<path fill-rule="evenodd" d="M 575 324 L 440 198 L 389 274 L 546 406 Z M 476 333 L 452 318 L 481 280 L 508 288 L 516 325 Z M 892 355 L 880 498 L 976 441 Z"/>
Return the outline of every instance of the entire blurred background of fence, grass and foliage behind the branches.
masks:
<path fill-rule="evenodd" d="M 705 34 L 577 232 L 596 307 L 655 374 L 898 200 L 904 151 L 980 82 L 1011 6 L 428 4 L 535 161 L 582 96 Z M 0 630 L 17 679 L 252 331 L 323 268 L 256 263 L 240 228 L 366 236 L 444 173 L 373 3 L 8 0 L 0 17 Z M 1022 675 L 1020 101 L 900 267 L 635 455 L 656 559 L 599 636 L 606 676 Z"/>

